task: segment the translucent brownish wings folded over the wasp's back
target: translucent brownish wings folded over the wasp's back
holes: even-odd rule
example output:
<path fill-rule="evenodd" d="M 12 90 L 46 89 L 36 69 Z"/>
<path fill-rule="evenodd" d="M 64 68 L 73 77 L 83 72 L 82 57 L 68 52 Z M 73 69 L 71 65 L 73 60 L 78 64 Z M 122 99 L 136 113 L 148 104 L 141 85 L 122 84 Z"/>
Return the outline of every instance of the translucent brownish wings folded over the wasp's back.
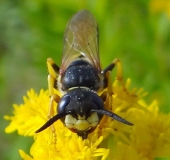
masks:
<path fill-rule="evenodd" d="M 76 59 L 84 59 L 101 71 L 98 27 L 93 15 L 86 10 L 75 14 L 67 24 L 60 74 Z"/>

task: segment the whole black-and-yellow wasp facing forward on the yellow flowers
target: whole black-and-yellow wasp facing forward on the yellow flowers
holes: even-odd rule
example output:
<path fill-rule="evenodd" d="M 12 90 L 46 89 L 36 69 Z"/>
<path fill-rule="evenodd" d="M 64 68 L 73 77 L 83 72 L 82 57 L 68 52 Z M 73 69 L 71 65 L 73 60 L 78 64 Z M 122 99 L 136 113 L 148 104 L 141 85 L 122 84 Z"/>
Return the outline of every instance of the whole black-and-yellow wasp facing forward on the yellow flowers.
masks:
<path fill-rule="evenodd" d="M 51 58 L 47 59 L 49 120 L 36 133 L 60 119 L 68 129 L 86 139 L 103 115 L 133 125 L 105 109 L 106 99 L 109 99 L 108 105 L 112 105 L 110 72 L 118 61 L 115 59 L 105 69 L 101 69 L 96 20 L 87 10 L 76 13 L 65 30 L 61 66 L 58 67 Z M 54 94 L 54 89 L 59 90 L 62 96 Z M 104 89 L 107 89 L 107 93 L 99 95 Z M 58 106 L 57 114 L 53 116 L 54 101 Z"/>

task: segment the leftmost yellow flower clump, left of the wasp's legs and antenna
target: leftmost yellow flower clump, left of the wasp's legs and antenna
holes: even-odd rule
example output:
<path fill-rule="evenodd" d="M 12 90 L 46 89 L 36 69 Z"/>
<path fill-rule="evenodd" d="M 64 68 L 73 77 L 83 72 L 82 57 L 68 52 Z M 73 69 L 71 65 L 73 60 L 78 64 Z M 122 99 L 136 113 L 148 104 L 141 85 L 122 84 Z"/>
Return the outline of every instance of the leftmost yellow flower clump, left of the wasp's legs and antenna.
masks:
<path fill-rule="evenodd" d="M 40 123 L 42 124 L 47 119 L 48 107 L 44 106 L 49 105 L 48 92 L 41 90 L 37 95 L 31 89 L 27 95 L 28 97 L 23 97 L 24 104 L 13 105 L 13 116 L 5 116 L 6 120 L 11 121 L 5 129 L 6 133 L 17 130 L 19 135 L 33 136 L 37 127 L 41 126 Z"/>

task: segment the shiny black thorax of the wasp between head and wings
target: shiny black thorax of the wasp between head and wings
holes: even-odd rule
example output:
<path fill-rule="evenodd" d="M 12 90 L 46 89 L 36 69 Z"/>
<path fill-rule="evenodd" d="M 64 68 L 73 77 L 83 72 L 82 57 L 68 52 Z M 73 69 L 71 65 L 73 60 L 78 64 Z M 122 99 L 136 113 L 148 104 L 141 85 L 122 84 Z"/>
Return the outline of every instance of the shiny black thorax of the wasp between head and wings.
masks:
<path fill-rule="evenodd" d="M 96 69 L 86 61 L 78 60 L 66 69 L 62 80 L 62 90 L 72 87 L 88 87 L 94 91 L 100 88 L 100 78 Z"/>

